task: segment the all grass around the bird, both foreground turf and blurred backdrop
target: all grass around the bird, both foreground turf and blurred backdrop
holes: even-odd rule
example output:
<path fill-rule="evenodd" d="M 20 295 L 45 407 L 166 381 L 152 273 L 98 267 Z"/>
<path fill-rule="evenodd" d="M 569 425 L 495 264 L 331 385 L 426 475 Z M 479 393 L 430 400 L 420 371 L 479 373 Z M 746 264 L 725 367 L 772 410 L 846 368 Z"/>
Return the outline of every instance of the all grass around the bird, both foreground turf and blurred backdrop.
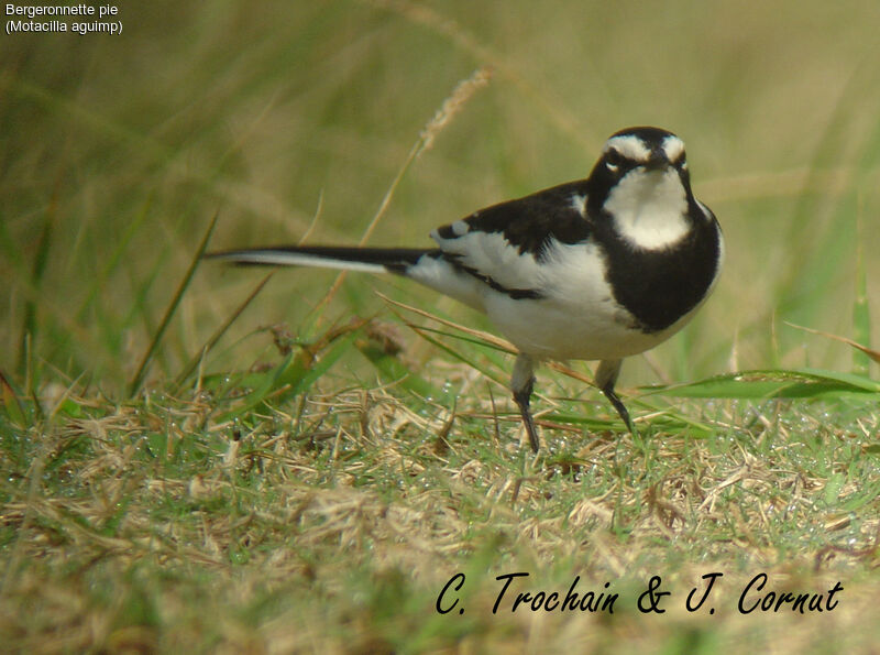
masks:
<path fill-rule="evenodd" d="M 0 642 L 876 648 L 876 7 L 209 4 L 0 42 Z M 547 368 L 534 457 L 505 345 L 405 282 L 196 265 L 425 243 L 642 122 L 690 144 L 728 260 L 627 362 L 637 436 Z M 575 579 L 614 612 L 513 611 Z M 825 611 L 740 611 L 771 592 Z"/>

